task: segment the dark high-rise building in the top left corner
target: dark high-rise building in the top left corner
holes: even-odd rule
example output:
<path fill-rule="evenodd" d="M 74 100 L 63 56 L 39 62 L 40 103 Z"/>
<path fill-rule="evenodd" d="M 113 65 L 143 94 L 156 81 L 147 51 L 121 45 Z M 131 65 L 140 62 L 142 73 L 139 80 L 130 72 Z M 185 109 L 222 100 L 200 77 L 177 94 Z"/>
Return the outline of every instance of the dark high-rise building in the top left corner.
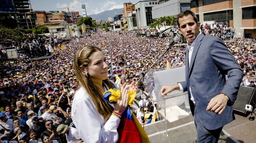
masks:
<path fill-rule="evenodd" d="M 29 0 L 0 0 L 0 16 L 17 20 L 18 28 L 32 29 L 35 18 L 29 5 Z"/>

